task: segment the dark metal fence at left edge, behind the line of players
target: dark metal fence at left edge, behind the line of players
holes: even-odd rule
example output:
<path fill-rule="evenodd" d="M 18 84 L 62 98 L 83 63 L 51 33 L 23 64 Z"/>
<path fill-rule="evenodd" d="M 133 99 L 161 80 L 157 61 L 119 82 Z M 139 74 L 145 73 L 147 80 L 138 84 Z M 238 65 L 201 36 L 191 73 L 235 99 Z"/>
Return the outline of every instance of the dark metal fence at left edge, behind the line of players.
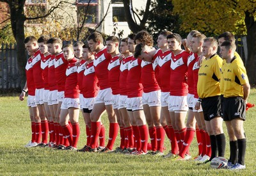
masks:
<path fill-rule="evenodd" d="M 20 87 L 16 44 L 2 44 L 0 49 L 0 89 Z"/>

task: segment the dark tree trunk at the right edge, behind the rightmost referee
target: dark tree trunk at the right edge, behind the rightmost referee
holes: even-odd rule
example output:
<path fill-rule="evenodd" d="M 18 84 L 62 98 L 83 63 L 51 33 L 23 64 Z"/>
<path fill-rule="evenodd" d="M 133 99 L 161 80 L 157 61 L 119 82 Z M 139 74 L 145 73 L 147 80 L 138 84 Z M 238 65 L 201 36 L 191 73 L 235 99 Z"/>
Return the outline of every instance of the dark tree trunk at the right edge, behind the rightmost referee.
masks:
<path fill-rule="evenodd" d="M 247 29 L 247 47 L 248 47 L 248 60 L 246 62 L 246 70 L 249 77 L 250 84 L 256 84 L 256 22 L 252 13 L 245 12 L 244 19 Z"/>

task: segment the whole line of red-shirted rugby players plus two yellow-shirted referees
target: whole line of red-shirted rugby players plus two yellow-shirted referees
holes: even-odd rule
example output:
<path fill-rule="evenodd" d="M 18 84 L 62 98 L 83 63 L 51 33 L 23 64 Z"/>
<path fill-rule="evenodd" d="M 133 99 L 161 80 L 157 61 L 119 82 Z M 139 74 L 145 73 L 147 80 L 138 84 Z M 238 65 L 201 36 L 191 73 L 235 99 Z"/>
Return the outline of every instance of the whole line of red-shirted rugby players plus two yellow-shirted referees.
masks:
<path fill-rule="evenodd" d="M 32 135 L 25 147 L 153 155 L 245 169 L 243 123 L 254 104 L 247 102 L 250 83 L 235 42 L 230 32 L 216 39 L 196 30 L 186 40 L 161 31 L 157 49 L 145 30 L 122 39 L 109 36 L 106 45 L 97 32 L 85 44 L 74 45 L 62 45 L 55 37 L 28 36 L 27 81 L 19 97 L 24 100 L 28 92 Z M 86 144 L 77 150 L 80 110 Z M 107 145 L 101 122 L 105 112 Z M 224 157 L 223 121 L 229 159 Z M 120 145 L 114 148 L 118 132 Z M 195 134 L 198 156 L 192 157 L 189 146 Z M 171 146 L 166 155 L 164 140 Z"/>

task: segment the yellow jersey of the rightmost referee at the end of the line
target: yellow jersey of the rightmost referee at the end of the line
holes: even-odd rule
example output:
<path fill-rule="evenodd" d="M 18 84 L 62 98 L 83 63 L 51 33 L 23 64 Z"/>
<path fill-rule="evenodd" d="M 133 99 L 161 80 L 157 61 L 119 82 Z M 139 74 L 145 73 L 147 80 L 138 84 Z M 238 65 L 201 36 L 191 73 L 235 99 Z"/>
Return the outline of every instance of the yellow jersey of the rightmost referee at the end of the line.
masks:
<path fill-rule="evenodd" d="M 235 57 L 230 63 L 225 63 L 221 81 L 225 98 L 243 97 L 243 84 L 249 83 L 243 62 Z"/>

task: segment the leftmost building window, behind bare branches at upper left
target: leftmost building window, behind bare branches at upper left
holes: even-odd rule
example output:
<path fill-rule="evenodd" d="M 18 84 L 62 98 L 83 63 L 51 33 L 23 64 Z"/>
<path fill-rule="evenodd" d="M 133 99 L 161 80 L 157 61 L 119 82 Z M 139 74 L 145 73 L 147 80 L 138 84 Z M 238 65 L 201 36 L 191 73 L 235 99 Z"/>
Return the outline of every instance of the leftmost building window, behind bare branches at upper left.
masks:
<path fill-rule="evenodd" d="M 47 0 L 26 0 L 27 17 L 40 17 L 47 13 Z M 27 20 L 27 24 L 43 24 L 45 19 Z"/>

